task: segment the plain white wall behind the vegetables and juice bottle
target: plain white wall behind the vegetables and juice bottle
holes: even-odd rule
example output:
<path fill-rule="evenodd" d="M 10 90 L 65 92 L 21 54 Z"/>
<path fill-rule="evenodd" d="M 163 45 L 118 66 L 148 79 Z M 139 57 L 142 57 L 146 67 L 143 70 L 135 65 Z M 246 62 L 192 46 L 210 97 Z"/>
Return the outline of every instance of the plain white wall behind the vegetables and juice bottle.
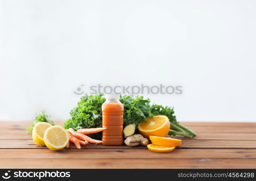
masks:
<path fill-rule="evenodd" d="M 179 121 L 256 121 L 254 0 L 0 0 L 0 120 L 69 118 L 91 85 L 147 95 Z"/>

